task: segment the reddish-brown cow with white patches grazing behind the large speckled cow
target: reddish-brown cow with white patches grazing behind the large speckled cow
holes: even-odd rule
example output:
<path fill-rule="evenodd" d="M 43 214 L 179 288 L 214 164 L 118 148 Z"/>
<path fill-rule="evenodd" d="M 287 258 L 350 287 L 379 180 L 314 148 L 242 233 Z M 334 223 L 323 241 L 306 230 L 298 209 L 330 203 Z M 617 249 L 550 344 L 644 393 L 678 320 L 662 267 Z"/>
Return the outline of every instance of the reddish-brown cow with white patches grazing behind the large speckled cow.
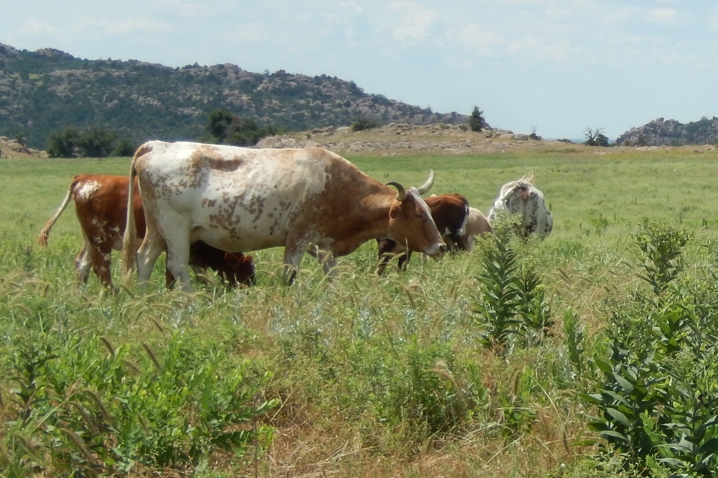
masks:
<path fill-rule="evenodd" d="M 111 252 L 120 250 L 122 234 L 127 219 L 127 176 L 110 176 L 104 174 L 83 174 L 75 176 L 67 190 L 60 208 L 47 221 L 37 238 L 38 244 L 47 247 L 50 229 L 70 201 L 75 202 L 75 213 L 83 232 L 83 248 L 75 259 L 78 280 L 85 284 L 88 281 L 90 267 L 107 287 L 112 287 L 110 276 Z M 139 194 L 133 201 L 134 221 L 137 234 L 144 236 L 144 209 Z M 254 280 L 254 265 L 251 256 L 241 253 L 231 254 L 220 251 L 207 244 L 192 244 L 190 264 L 195 272 L 202 269 L 214 269 L 220 279 L 231 285 L 250 285 Z M 167 285 L 172 285 L 174 277 L 167 272 Z"/>

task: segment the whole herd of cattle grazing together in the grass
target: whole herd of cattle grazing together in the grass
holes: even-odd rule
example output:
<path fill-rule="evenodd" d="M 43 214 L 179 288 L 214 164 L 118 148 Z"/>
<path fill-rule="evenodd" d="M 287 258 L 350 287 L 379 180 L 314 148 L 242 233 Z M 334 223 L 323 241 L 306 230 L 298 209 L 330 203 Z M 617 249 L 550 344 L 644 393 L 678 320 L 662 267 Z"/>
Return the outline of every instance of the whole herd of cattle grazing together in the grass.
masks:
<path fill-rule="evenodd" d="M 129 177 L 75 176 L 38 243 L 47 246 L 50 229 L 74 201 L 84 239 L 75 259 L 82 283 L 92 267 L 112 287 L 115 249 L 122 251 L 127 282 L 133 264 L 139 282 L 149 280 L 167 252 L 168 287 L 179 279 L 191 290 L 190 267 L 198 277 L 213 269 L 230 285 L 251 285 L 254 265 L 243 253 L 269 247 L 284 247 L 284 280 L 290 283 L 304 252 L 331 274 L 336 257 L 371 239 L 378 242 L 381 274 L 397 255 L 405 269 L 412 251 L 440 257 L 472 249 L 474 237 L 492 231 L 503 212 L 520 216 L 518 234 L 545 238 L 553 219 L 532 180 L 524 176 L 502 186 L 487 218 L 460 194 L 423 199 L 433 171 L 424 185 L 405 188 L 375 181 L 322 148 L 150 141 L 136 151 Z"/>

